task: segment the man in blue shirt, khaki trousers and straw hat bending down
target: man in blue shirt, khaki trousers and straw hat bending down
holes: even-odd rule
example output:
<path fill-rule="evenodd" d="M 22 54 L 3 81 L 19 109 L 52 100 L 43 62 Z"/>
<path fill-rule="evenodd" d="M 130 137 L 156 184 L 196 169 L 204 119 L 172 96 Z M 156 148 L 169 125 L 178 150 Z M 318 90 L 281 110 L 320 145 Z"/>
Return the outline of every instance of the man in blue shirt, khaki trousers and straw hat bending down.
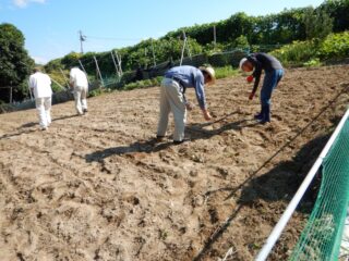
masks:
<path fill-rule="evenodd" d="M 205 98 L 205 84 L 214 84 L 215 71 L 212 67 L 176 66 L 166 72 L 160 90 L 160 120 L 157 129 L 157 138 L 163 139 L 166 135 L 168 115 L 170 111 L 174 119 L 173 144 L 184 141 L 184 128 L 186 109 L 192 107 L 186 102 L 185 89 L 194 88 L 198 105 L 206 121 L 212 119 L 207 111 Z"/>

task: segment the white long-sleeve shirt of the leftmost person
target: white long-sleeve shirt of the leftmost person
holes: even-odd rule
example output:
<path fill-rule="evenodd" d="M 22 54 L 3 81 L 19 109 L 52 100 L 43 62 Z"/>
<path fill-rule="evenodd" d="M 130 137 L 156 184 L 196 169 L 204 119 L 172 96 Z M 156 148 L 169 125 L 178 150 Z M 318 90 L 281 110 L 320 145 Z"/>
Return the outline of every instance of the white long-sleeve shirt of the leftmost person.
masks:
<path fill-rule="evenodd" d="M 29 87 L 34 89 L 35 98 L 46 98 L 52 96 L 51 79 L 47 74 L 41 72 L 31 75 Z"/>

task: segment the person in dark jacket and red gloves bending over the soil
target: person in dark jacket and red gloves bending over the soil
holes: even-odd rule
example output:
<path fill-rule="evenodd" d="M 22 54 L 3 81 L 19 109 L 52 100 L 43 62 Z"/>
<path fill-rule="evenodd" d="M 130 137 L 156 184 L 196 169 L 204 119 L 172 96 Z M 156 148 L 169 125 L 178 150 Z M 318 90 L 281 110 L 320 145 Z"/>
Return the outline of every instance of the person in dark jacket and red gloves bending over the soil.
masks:
<path fill-rule="evenodd" d="M 243 72 L 253 72 L 252 76 L 248 77 L 248 82 L 252 82 L 254 78 L 254 86 L 249 97 L 250 100 L 253 99 L 258 88 L 262 71 L 264 70 L 265 75 L 261 89 L 262 109 L 261 112 L 254 117 L 262 124 L 270 122 L 272 94 L 285 74 L 281 63 L 270 54 L 256 52 L 250 54 L 246 58 L 243 58 L 240 61 L 240 70 L 242 70 Z"/>

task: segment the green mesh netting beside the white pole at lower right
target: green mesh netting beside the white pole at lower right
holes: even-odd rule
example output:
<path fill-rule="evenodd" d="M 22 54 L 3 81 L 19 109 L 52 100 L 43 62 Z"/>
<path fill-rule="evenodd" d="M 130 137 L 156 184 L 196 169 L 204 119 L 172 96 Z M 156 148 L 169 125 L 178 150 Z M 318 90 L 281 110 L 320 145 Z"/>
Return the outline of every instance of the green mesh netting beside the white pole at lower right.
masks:
<path fill-rule="evenodd" d="M 337 260 L 349 199 L 349 121 L 322 165 L 314 209 L 290 260 Z"/>

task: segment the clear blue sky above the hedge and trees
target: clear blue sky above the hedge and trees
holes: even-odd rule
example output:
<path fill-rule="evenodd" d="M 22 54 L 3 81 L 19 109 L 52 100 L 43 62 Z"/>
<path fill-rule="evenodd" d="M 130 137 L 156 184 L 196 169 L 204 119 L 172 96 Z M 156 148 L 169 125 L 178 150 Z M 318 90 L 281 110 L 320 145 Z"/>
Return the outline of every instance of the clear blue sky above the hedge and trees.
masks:
<path fill-rule="evenodd" d="M 250 15 L 285 8 L 317 7 L 323 0 L 0 0 L 0 23 L 22 30 L 26 49 L 45 63 L 80 51 L 79 30 L 87 36 L 84 51 L 107 51 L 158 38 L 169 30 L 216 22 L 243 11 Z M 93 38 L 96 37 L 96 38 Z M 109 39 L 98 39 L 109 38 Z"/>

